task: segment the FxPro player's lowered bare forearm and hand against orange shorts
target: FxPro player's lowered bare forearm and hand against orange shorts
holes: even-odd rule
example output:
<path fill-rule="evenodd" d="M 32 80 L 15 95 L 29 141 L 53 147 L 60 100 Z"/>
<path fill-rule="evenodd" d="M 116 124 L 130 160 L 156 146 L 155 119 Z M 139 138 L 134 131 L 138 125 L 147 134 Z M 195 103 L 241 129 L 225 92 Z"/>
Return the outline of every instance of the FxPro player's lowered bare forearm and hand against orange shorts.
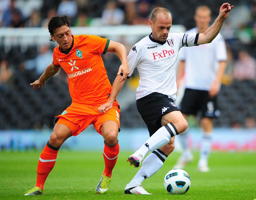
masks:
<path fill-rule="evenodd" d="M 120 78 L 121 78 L 120 74 L 117 75 L 117 77 L 115 78 L 115 81 L 113 83 L 113 87 L 109 96 L 109 100 L 98 108 L 99 113 L 106 113 L 106 111 L 112 108 L 113 103 L 117 98 L 117 95 L 119 94 L 120 90 L 123 88 L 123 85 L 125 84 L 125 81 L 126 81 L 126 79 L 124 81 L 119 81 Z"/>

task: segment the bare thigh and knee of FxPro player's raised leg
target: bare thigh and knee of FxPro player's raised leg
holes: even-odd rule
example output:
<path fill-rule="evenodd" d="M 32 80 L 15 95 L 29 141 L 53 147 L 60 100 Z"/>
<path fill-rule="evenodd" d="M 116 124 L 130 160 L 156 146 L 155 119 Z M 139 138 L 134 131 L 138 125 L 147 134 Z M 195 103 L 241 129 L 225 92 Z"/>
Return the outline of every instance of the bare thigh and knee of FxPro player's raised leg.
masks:
<path fill-rule="evenodd" d="M 184 119 L 181 111 L 175 110 L 162 116 L 161 125 L 164 126 L 167 123 L 173 123 L 178 131 L 182 133 L 187 128 L 187 121 Z"/>

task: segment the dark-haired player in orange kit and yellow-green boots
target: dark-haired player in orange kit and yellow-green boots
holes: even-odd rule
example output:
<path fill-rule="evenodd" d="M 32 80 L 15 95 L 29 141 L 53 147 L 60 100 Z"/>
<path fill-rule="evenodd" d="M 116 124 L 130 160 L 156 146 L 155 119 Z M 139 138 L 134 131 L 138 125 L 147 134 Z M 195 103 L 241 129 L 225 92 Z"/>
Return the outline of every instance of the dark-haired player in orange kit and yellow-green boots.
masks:
<path fill-rule="evenodd" d="M 57 116 L 53 133 L 39 158 L 36 185 L 25 195 L 42 194 L 45 180 L 54 167 L 63 142 L 72 135 L 78 135 L 90 124 L 105 139 L 105 169 L 95 189 L 97 194 L 107 192 L 117 162 L 120 107 L 115 99 L 119 89 L 112 90 L 101 54 L 107 51 L 117 53 L 122 62 L 117 80 L 122 82 L 129 74 L 126 49 L 118 42 L 95 35 L 72 35 L 67 19 L 66 16 L 51 18 L 48 24 L 51 41 L 59 45 L 54 49 L 53 63 L 30 85 L 38 90 L 62 67 L 69 79 L 72 103 Z"/>

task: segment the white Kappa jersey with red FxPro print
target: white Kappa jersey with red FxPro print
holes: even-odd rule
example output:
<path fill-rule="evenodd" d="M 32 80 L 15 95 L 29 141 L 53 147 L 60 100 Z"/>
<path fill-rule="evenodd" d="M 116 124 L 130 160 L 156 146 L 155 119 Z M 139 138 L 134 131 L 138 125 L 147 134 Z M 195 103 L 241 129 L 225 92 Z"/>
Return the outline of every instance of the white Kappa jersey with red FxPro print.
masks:
<path fill-rule="evenodd" d="M 131 76 L 138 68 L 140 80 L 136 99 L 153 92 L 168 95 L 175 101 L 178 53 L 182 46 L 196 46 L 199 34 L 169 33 L 165 42 L 157 41 L 151 34 L 141 39 L 130 50 L 128 63 Z"/>

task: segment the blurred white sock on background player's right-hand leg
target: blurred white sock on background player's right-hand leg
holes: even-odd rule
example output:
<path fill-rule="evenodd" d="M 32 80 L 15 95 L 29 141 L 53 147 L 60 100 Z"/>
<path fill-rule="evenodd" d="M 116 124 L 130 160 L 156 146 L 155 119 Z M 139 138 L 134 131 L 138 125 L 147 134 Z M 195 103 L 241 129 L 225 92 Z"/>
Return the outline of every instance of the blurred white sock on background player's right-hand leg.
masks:
<path fill-rule="evenodd" d="M 208 158 L 211 152 L 211 134 L 204 133 L 200 149 L 200 159 L 198 165 L 208 165 Z"/>

